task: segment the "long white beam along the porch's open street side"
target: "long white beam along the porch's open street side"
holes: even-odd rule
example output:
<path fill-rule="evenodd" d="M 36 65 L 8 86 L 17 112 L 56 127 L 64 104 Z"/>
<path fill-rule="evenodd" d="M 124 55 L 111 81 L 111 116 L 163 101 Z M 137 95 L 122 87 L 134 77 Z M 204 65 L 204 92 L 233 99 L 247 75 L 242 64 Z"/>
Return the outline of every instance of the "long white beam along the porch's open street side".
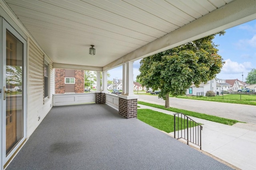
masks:
<path fill-rule="evenodd" d="M 103 70 L 109 70 L 121 65 L 126 61 L 135 61 L 154 55 L 187 43 L 200 39 L 207 35 L 228 29 L 241 23 L 254 20 L 256 18 L 256 0 L 235 0 L 194 20 L 187 25 L 172 31 L 163 37 L 140 47 L 139 49 L 124 55 L 112 63 L 103 67 Z"/>

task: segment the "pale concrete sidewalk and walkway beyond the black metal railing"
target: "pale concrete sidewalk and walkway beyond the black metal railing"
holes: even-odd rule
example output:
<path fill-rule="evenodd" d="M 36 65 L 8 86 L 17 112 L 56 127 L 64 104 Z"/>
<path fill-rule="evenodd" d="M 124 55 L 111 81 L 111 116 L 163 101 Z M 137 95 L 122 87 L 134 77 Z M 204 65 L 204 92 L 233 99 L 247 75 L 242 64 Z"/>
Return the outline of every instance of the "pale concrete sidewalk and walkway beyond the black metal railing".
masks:
<path fill-rule="evenodd" d="M 152 109 L 166 114 L 172 111 L 140 105 L 138 109 Z M 190 116 L 189 116 L 190 117 Z M 256 132 L 239 127 L 223 125 L 196 117 L 190 117 L 202 123 L 202 150 L 232 164 L 242 170 L 252 170 L 256 167 Z M 238 125 L 239 126 L 239 125 Z M 251 127 L 249 124 L 248 126 Z M 246 127 L 242 125 L 241 127 Z"/>

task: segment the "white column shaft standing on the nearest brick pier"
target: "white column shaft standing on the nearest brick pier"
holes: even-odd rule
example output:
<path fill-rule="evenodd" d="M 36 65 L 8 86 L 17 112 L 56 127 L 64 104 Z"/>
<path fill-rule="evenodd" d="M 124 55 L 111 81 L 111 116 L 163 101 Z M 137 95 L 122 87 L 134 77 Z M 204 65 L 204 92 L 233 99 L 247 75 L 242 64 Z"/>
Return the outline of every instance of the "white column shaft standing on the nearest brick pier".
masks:
<path fill-rule="evenodd" d="M 126 62 L 126 95 L 133 96 L 133 63 L 134 61 Z"/>

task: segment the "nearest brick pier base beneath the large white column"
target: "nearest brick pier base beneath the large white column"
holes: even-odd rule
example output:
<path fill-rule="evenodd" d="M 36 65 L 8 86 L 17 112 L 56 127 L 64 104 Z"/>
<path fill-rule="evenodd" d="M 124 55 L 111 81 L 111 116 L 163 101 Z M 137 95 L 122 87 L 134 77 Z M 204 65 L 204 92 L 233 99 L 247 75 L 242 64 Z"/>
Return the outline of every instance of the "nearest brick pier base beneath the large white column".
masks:
<path fill-rule="evenodd" d="M 119 98 L 119 114 L 126 119 L 137 117 L 137 99 Z"/>

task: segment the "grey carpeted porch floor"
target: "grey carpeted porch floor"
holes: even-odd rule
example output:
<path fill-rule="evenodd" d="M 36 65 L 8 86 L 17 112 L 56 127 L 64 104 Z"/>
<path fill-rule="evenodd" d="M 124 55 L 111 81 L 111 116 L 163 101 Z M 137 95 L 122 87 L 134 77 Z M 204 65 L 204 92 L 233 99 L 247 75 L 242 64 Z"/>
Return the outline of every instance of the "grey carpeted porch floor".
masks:
<path fill-rule="evenodd" d="M 53 107 L 7 170 L 232 169 L 106 104 Z"/>

